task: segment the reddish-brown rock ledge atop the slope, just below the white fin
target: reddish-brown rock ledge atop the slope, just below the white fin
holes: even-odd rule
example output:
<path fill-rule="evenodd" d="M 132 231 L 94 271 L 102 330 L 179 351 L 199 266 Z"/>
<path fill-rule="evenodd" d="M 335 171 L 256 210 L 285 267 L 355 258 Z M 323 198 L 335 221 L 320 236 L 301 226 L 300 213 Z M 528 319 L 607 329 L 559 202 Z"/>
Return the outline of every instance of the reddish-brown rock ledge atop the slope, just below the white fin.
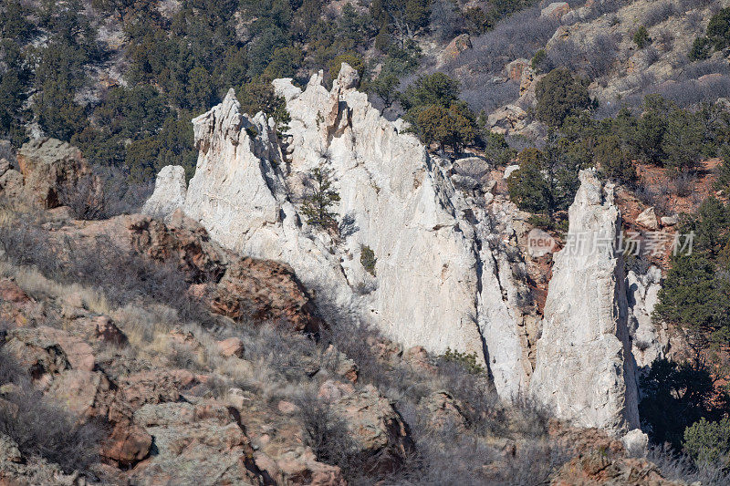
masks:
<path fill-rule="evenodd" d="M 169 215 L 167 222 L 132 214 L 67 227 L 61 234 L 75 239 L 103 234 L 124 250 L 175 265 L 192 284 L 191 295 L 217 314 L 270 321 L 297 331 L 314 332 L 322 325 L 291 267 L 224 250 L 181 211 Z"/>

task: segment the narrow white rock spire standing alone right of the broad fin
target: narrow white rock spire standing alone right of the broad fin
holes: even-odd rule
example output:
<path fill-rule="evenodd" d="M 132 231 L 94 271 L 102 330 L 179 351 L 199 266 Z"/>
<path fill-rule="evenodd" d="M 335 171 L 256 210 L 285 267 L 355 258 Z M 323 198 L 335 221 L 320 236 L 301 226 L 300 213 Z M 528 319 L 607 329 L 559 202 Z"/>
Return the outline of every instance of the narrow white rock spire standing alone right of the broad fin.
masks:
<path fill-rule="evenodd" d="M 636 364 L 613 187 L 580 172 L 566 248 L 555 254 L 530 388 L 558 418 L 615 434 L 639 427 Z"/>

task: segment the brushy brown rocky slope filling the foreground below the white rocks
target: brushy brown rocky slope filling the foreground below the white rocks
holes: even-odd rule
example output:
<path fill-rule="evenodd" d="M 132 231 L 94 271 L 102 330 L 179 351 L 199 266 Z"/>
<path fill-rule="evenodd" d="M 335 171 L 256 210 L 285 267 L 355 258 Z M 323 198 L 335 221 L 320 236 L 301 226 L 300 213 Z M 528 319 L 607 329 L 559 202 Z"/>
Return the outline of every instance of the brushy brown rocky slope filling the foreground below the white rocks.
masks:
<path fill-rule="evenodd" d="M 179 211 L 77 219 L 59 195 L 103 194 L 66 144 L 4 167 L 3 483 L 672 483 L 641 438 L 500 404 L 479 369 L 338 330 L 287 265 L 225 251 Z"/>

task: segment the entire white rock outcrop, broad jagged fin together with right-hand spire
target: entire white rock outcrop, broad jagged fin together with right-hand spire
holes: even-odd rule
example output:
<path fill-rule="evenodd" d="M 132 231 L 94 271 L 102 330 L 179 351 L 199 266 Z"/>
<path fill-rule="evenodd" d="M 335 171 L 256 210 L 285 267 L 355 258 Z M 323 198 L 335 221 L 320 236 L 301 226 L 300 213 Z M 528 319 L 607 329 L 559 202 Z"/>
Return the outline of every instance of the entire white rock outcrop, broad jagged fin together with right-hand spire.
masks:
<path fill-rule="evenodd" d="M 568 240 L 583 248 L 556 254 L 533 375 L 526 329 L 539 324 L 529 326 L 534 313 L 520 299 L 513 269 L 522 263 L 505 248 L 491 194 L 465 190 L 468 178 L 455 173 L 485 162 L 429 155 L 355 89 L 347 65 L 329 91 L 321 74 L 304 90 L 274 84 L 291 115 L 284 140 L 272 120 L 242 114 L 229 92 L 193 120 L 200 155 L 187 191 L 183 172 L 166 168 L 145 211 L 180 206 L 225 248 L 291 265 L 332 322 L 369 323 L 435 353 L 476 353 L 503 398 L 529 389 L 579 426 L 638 427 L 632 339 L 649 341 L 642 366 L 662 349 L 644 332 L 655 289 L 628 285 L 609 248 L 620 231 L 612 188 L 581 173 Z M 323 163 L 340 196 L 336 236 L 299 212 L 308 172 Z M 366 246 L 373 274 L 360 263 Z"/>

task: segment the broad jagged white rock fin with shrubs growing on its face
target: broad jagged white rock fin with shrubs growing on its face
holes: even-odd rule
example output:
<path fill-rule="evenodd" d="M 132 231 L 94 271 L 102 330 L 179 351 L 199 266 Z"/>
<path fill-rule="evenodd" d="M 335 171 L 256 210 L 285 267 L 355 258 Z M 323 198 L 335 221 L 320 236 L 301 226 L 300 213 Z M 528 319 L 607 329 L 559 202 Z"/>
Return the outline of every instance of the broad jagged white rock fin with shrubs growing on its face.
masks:
<path fill-rule="evenodd" d="M 290 264 L 325 312 L 379 326 L 404 346 L 474 352 L 500 395 L 526 390 L 515 263 L 484 199 L 457 189 L 448 164 L 401 133 L 400 120 L 382 118 L 357 84 L 345 64 L 330 91 L 321 72 L 304 91 L 276 80 L 291 116 L 283 144 L 273 120 L 242 114 L 231 90 L 193 119 L 200 154 L 184 212 L 227 248 Z M 338 237 L 298 212 L 302 181 L 325 160 L 341 198 Z M 360 264 L 363 245 L 375 276 Z"/>

